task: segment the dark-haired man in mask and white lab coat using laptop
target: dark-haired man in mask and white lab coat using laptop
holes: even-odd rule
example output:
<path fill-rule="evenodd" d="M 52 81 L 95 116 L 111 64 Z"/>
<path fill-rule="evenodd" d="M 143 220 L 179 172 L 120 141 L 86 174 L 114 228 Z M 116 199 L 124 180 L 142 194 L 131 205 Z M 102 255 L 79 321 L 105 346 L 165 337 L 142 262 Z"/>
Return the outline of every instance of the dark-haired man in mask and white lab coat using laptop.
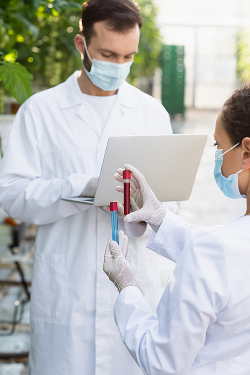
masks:
<path fill-rule="evenodd" d="M 103 209 L 60 200 L 94 195 L 110 136 L 172 132 L 161 104 L 125 82 L 141 24 L 129 0 L 84 4 L 81 35 L 75 37 L 81 71 L 30 97 L 9 134 L 0 203 L 9 215 L 38 226 L 31 375 L 141 373 L 120 340 L 112 314 L 117 291 L 102 271 L 110 217 Z M 168 205 L 172 211 L 176 207 Z M 155 259 L 145 249 L 145 225 L 124 228 L 120 220 L 119 229 L 139 237 L 130 240 L 132 266 L 154 309 L 161 286 Z"/>

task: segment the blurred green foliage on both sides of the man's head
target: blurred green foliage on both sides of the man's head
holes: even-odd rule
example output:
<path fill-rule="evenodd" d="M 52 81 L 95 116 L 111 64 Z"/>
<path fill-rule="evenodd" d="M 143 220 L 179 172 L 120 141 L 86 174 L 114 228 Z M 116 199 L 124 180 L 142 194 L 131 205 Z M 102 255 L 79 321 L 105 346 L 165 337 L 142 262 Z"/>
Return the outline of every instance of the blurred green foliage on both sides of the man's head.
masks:
<path fill-rule="evenodd" d="M 84 1 L 83 1 L 84 2 Z M 79 33 L 82 0 L 9 0 L 1 2 L 0 51 L 18 51 L 17 61 L 34 77 L 39 91 L 63 82 L 80 69 L 73 37 Z M 153 0 L 137 0 L 143 17 L 139 52 L 129 80 L 151 78 L 159 65 L 161 40 Z"/>

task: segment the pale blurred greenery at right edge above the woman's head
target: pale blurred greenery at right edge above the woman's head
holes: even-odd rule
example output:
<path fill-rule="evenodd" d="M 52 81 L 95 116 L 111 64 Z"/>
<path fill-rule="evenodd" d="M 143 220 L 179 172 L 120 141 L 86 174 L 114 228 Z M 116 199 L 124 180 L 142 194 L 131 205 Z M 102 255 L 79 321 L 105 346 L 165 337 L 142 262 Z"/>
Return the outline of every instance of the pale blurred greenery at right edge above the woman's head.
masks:
<path fill-rule="evenodd" d="M 237 33 L 237 78 L 241 84 L 250 83 L 250 29 Z"/>

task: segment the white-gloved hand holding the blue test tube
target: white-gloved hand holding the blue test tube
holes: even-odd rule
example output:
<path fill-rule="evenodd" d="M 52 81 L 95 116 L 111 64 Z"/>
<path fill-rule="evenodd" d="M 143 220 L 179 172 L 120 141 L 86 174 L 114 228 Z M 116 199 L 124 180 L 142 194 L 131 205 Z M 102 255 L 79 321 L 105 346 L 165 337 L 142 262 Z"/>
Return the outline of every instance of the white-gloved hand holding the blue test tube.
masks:
<path fill-rule="evenodd" d="M 114 283 L 118 292 L 126 286 L 135 286 L 144 295 L 144 288 L 130 265 L 132 250 L 131 246 L 127 245 L 127 241 L 127 236 L 124 236 L 122 230 L 119 231 L 120 245 L 112 241 L 112 234 L 110 234 L 104 255 L 103 271 Z"/>

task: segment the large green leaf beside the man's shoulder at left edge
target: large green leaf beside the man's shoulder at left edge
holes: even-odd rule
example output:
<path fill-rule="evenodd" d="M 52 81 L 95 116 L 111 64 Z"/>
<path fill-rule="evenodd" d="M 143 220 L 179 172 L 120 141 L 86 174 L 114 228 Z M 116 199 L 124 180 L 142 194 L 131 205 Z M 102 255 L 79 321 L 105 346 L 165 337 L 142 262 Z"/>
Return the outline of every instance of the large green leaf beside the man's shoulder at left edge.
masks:
<path fill-rule="evenodd" d="M 3 81 L 5 90 L 22 104 L 32 95 L 30 80 L 33 76 L 19 63 L 10 61 L 0 66 L 0 81 Z"/>

